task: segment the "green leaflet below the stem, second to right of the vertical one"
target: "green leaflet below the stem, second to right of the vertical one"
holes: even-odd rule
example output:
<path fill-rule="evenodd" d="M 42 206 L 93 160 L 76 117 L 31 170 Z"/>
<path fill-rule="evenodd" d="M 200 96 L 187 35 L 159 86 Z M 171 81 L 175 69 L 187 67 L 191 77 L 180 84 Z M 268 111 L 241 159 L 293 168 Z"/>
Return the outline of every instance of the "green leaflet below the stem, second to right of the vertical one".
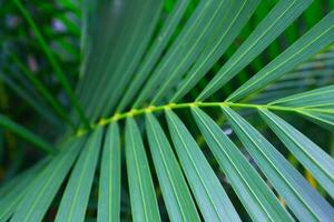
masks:
<path fill-rule="evenodd" d="M 150 152 L 170 221 L 200 221 L 170 144 L 151 113 L 146 114 Z"/>

